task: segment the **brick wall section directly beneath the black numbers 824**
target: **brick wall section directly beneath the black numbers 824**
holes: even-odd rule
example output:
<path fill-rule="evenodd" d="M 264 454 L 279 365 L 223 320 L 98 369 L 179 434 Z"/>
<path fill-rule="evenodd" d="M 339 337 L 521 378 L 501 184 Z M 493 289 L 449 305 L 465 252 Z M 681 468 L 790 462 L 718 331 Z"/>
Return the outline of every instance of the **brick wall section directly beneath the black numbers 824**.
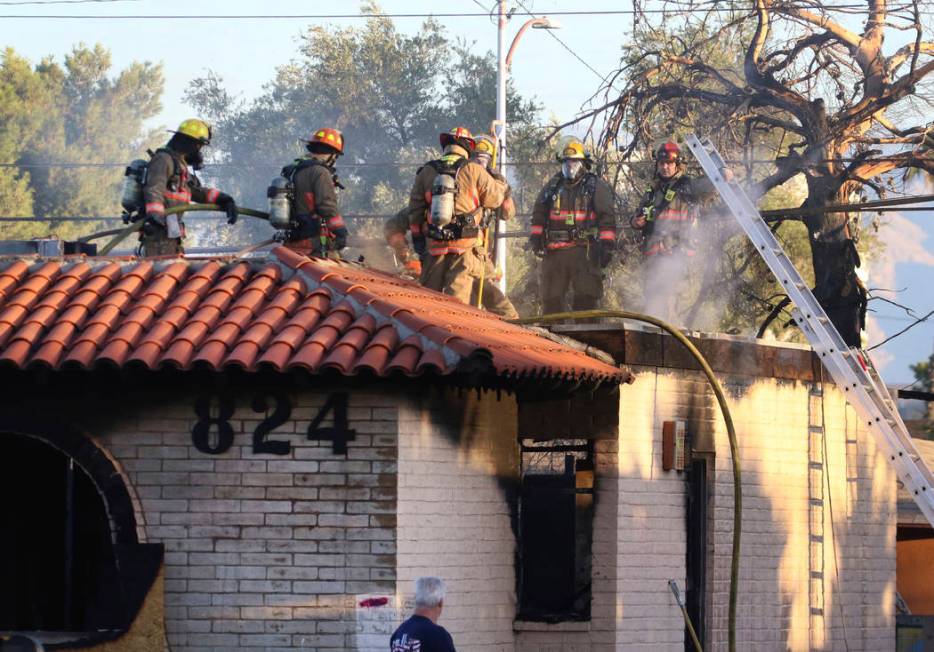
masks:
<path fill-rule="evenodd" d="M 344 456 L 305 437 L 327 397 L 290 397 L 268 436 L 288 455 L 254 454 L 265 415 L 252 396 L 235 402 L 222 454 L 192 445 L 191 400 L 140 406 L 100 437 L 135 489 L 145 540 L 165 544 L 174 652 L 385 649 L 392 604 L 358 603 L 395 591 L 396 401 L 349 392 L 356 438 Z"/>

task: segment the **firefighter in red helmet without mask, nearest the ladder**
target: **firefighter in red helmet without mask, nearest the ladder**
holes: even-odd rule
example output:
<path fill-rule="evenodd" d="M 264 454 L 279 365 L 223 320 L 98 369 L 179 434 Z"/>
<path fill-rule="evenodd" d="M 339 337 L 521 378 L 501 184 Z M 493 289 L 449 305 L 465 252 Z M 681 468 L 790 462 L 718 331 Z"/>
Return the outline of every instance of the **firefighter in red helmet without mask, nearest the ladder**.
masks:
<path fill-rule="evenodd" d="M 696 226 L 701 202 L 715 189 L 707 177 L 685 174 L 677 143 L 663 143 L 653 153 L 655 172 L 630 225 L 642 232 L 645 312 L 678 326 L 697 299 L 690 274 L 696 254 Z M 733 178 L 730 170 L 724 177 Z"/>

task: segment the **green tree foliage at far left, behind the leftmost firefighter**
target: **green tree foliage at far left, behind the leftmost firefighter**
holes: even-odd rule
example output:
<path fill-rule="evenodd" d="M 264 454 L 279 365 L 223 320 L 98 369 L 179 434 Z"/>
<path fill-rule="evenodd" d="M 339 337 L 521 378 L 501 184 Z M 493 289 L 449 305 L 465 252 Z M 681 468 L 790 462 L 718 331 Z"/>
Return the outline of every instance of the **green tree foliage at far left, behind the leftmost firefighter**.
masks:
<path fill-rule="evenodd" d="M 7 49 L 0 60 L 0 214 L 119 214 L 120 167 L 49 164 L 127 161 L 155 141 L 143 123 L 161 106 L 162 68 L 132 63 L 111 76 L 101 45 L 75 46 L 60 65 Z M 96 223 L 8 223 L 5 238 L 87 234 Z"/>

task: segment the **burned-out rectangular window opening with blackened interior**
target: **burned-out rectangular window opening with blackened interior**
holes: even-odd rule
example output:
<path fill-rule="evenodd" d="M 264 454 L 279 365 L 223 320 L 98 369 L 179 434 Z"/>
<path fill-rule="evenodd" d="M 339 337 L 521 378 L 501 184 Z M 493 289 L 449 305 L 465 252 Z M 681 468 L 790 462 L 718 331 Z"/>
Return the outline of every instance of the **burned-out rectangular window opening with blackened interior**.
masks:
<path fill-rule="evenodd" d="M 519 620 L 590 620 L 593 441 L 521 441 Z"/>

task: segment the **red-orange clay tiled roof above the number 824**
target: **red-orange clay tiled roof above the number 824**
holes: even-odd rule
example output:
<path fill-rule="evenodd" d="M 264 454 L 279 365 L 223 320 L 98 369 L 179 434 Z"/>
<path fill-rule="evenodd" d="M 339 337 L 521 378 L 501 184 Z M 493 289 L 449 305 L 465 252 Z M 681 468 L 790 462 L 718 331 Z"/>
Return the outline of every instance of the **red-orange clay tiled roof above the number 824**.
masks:
<path fill-rule="evenodd" d="M 4 366 L 628 378 L 417 284 L 285 248 L 247 261 L 0 259 Z"/>

